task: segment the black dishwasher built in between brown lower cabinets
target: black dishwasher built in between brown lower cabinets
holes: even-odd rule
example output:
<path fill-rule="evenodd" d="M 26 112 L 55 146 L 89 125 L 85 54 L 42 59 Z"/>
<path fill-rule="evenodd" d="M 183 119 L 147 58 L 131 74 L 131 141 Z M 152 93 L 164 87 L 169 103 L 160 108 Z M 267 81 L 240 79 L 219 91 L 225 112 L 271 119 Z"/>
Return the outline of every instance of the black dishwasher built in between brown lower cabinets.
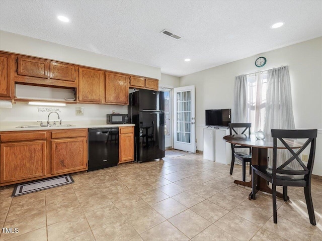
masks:
<path fill-rule="evenodd" d="M 90 128 L 88 171 L 117 166 L 118 162 L 119 128 Z"/>

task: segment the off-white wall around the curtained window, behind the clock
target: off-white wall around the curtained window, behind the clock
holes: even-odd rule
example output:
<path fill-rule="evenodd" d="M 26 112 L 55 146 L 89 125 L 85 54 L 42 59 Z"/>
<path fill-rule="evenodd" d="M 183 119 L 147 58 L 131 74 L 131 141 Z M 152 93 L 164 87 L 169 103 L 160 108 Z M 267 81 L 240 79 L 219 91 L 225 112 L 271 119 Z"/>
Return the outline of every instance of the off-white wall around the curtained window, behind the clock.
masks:
<path fill-rule="evenodd" d="M 255 60 L 264 56 L 262 68 Z M 196 138 L 202 150 L 205 109 L 231 108 L 234 77 L 289 66 L 295 127 L 319 129 L 314 174 L 322 175 L 322 37 L 241 59 L 180 78 L 180 86 L 196 86 Z"/>

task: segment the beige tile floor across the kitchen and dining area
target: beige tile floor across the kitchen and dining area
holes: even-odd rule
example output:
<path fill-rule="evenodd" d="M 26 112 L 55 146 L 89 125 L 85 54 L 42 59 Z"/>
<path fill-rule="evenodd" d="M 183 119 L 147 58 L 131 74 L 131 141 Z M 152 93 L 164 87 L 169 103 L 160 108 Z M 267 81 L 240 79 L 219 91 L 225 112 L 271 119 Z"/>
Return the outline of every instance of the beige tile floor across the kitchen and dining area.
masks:
<path fill-rule="evenodd" d="M 322 181 L 312 179 L 316 226 L 302 188 L 289 188 L 288 202 L 278 199 L 274 224 L 271 196 L 248 200 L 250 188 L 233 183 L 240 166 L 230 176 L 230 166 L 178 153 L 15 198 L 13 187 L 0 188 L 0 226 L 19 228 L 0 240 L 322 240 Z"/>

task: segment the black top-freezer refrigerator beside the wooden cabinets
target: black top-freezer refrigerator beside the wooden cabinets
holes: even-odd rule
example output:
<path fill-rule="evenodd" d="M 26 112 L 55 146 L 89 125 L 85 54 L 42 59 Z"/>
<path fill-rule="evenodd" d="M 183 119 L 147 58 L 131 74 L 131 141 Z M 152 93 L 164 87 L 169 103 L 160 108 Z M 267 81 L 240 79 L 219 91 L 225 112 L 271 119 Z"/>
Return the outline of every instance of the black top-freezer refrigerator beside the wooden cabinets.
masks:
<path fill-rule="evenodd" d="M 129 123 L 134 128 L 134 159 L 146 162 L 165 157 L 165 94 L 136 90 L 129 94 Z"/>

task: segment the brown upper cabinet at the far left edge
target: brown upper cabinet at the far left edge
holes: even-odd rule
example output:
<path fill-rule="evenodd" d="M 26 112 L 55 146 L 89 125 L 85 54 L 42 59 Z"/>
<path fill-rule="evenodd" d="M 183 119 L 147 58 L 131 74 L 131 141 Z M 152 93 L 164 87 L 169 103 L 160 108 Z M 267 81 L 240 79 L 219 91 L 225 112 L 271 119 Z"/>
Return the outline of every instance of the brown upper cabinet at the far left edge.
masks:
<path fill-rule="evenodd" d="M 13 98 L 11 64 L 12 56 L 10 54 L 0 53 L 0 99 Z"/>

